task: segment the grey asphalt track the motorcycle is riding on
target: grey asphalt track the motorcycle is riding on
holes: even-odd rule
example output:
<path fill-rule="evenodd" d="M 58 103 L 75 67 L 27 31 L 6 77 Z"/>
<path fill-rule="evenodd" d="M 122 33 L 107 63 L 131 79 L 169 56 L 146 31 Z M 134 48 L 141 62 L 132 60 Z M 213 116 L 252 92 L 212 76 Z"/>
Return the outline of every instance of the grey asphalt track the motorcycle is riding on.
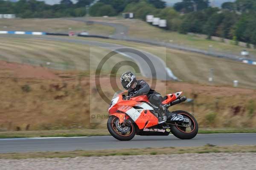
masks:
<path fill-rule="evenodd" d="M 131 141 L 118 141 L 112 136 L 75 138 L 8 138 L 0 139 L 0 153 L 105 150 L 146 147 L 196 147 L 205 144 L 255 145 L 256 133 L 198 134 L 190 140 L 169 136 L 135 136 Z"/>

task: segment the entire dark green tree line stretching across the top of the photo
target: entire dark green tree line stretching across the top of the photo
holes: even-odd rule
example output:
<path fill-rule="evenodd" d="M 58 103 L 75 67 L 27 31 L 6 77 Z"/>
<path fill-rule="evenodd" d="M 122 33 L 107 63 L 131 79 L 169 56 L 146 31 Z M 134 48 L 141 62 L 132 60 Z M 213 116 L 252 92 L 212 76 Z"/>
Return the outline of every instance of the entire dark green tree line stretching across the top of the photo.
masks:
<path fill-rule="evenodd" d="M 37 0 L 19 0 L 16 3 L 0 0 L 0 13 L 16 14 L 22 18 L 115 16 L 133 12 L 136 18 L 145 20 L 153 14 L 167 20 L 167 28 L 182 34 L 194 32 L 238 40 L 256 45 L 256 0 L 236 0 L 223 3 L 221 9 L 210 6 L 209 0 L 182 0 L 174 7 L 166 7 L 163 0 L 61 0 L 48 5 Z M 88 8 L 86 8 L 88 7 Z M 88 11 L 86 11 L 89 9 Z"/>

